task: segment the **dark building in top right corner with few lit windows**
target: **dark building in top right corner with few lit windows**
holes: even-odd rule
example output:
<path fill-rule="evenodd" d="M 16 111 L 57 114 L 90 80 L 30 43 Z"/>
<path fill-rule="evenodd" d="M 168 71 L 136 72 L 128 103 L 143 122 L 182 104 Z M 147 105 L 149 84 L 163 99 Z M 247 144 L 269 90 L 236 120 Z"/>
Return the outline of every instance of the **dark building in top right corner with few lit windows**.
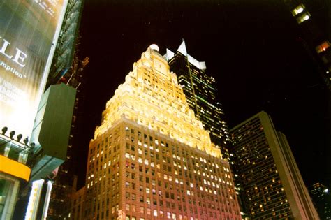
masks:
<path fill-rule="evenodd" d="M 300 37 L 307 53 L 315 61 L 321 78 L 331 90 L 330 2 L 284 0 L 300 26 Z"/>

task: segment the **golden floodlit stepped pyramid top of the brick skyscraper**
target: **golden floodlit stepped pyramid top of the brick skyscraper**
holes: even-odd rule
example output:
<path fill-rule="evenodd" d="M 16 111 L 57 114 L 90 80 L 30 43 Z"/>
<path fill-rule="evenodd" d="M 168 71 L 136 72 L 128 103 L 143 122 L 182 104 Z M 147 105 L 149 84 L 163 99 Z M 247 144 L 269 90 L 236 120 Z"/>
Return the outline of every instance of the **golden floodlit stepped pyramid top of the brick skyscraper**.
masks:
<path fill-rule="evenodd" d="M 101 126 L 95 138 L 102 135 L 121 119 L 128 119 L 142 126 L 167 135 L 173 140 L 221 157 L 221 152 L 196 119 L 186 103 L 177 76 L 170 71 L 168 61 L 152 45 L 133 64 L 125 82 L 107 102 Z"/>

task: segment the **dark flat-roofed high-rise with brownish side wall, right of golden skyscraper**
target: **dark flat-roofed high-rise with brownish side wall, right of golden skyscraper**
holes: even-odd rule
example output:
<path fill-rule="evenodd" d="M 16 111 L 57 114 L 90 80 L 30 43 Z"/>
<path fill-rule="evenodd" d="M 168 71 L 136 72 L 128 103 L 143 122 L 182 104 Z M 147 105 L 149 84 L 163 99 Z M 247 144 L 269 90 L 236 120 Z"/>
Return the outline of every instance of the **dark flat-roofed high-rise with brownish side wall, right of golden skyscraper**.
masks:
<path fill-rule="evenodd" d="M 265 112 L 230 129 L 251 219 L 319 219 L 284 134 Z"/>

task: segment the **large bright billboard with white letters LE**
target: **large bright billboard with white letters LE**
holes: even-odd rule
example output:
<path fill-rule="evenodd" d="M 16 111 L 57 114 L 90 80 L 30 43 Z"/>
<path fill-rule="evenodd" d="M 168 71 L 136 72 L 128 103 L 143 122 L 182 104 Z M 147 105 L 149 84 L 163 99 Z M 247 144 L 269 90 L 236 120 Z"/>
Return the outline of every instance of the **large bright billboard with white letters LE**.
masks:
<path fill-rule="evenodd" d="M 31 134 L 67 3 L 0 1 L 0 129 Z"/>

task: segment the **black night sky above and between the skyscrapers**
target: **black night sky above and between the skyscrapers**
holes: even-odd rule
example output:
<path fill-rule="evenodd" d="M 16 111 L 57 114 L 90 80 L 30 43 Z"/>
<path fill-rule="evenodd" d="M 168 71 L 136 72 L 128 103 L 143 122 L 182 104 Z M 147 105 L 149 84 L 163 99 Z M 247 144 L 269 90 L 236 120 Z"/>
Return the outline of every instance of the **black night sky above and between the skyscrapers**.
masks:
<path fill-rule="evenodd" d="M 311 5 L 321 28 L 326 1 Z M 328 91 L 282 1 L 87 0 L 80 34 L 80 56 L 90 57 L 80 167 L 105 102 L 133 62 L 152 43 L 164 54 L 184 38 L 188 53 L 216 78 L 229 127 L 267 111 L 286 134 L 305 184 L 331 186 Z"/>

